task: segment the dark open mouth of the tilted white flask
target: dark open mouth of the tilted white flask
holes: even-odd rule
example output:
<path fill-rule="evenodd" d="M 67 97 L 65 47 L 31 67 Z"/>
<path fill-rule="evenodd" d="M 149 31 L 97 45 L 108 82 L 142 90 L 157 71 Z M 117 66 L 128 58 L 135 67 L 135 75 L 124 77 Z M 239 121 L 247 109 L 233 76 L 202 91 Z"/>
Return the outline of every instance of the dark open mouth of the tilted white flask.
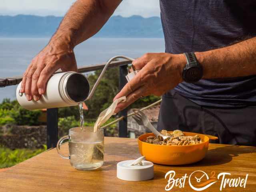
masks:
<path fill-rule="evenodd" d="M 73 101 L 81 102 L 88 97 L 90 85 L 84 75 L 74 73 L 67 80 L 66 91 Z"/>

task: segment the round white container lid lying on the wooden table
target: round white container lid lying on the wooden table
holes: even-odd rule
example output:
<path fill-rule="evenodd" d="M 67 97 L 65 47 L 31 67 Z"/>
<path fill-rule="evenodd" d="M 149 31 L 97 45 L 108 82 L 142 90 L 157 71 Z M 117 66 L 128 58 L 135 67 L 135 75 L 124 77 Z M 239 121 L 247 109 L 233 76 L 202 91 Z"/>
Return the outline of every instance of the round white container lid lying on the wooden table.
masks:
<path fill-rule="evenodd" d="M 142 160 L 143 158 L 138 159 L 118 162 L 116 170 L 117 178 L 126 181 L 152 179 L 154 177 L 154 164 L 150 161 Z"/>

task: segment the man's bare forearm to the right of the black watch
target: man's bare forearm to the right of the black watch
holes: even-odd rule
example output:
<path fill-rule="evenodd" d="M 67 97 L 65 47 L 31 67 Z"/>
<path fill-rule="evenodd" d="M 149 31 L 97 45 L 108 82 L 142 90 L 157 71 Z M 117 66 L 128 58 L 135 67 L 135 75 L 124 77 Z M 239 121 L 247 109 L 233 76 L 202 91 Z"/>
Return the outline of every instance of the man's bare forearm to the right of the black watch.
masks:
<path fill-rule="evenodd" d="M 203 78 L 229 78 L 256 74 L 256 38 L 237 44 L 196 52 L 198 62 L 203 67 Z"/>

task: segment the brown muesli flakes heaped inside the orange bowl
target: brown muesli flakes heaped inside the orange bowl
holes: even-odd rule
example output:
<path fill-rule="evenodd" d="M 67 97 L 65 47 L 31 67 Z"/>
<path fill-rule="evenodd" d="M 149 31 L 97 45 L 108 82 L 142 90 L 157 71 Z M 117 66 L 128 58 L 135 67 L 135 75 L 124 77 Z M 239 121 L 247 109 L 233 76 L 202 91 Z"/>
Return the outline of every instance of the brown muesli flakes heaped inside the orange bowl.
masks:
<path fill-rule="evenodd" d="M 166 130 L 162 130 L 161 134 L 164 136 L 170 136 L 167 139 L 163 139 L 161 136 L 148 136 L 144 142 L 158 145 L 194 145 L 202 143 L 202 139 L 198 135 L 185 136 L 181 130 L 175 130 L 172 133 L 168 133 Z"/>

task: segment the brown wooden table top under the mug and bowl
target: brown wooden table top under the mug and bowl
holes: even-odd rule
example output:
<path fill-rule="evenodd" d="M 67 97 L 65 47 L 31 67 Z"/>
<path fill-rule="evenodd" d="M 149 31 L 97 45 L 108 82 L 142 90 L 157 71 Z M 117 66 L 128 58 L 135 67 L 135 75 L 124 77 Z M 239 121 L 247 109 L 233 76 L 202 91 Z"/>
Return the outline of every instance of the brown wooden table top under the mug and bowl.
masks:
<path fill-rule="evenodd" d="M 62 150 L 63 152 L 65 150 L 68 152 L 68 145 L 64 144 Z M 220 191 L 222 177 L 218 180 L 217 175 L 221 172 L 231 174 L 230 176 L 225 176 L 225 178 L 240 177 L 242 179 L 246 178 L 246 174 L 248 174 L 246 188 L 240 186 L 230 188 L 228 183 L 226 188 L 222 188 L 222 191 L 256 191 L 256 147 L 210 144 L 206 157 L 195 164 L 186 166 L 155 164 L 154 179 L 152 180 L 141 182 L 119 180 L 116 177 L 116 164 L 122 160 L 138 157 L 140 157 L 140 153 L 136 139 L 105 137 L 103 166 L 93 171 L 80 171 L 70 166 L 69 160 L 60 158 L 56 148 L 54 148 L 0 172 L 0 191 L 160 192 L 165 191 L 169 177 L 165 179 L 164 176 L 170 170 L 176 172 L 174 179 L 182 178 L 184 174 L 190 176 L 196 170 L 202 170 L 210 177 L 213 174 L 212 171 L 214 171 L 218 182 L 204 190 L 211 192 Z M 198 172 L 197 174 L 200 175 Z M 196 186 L 196 181 L 192 180 L 191 183 Z M 169 185 L 169 188 L 170 186 L 172 184 Z M 202 186 L 196 187 L 200 188 Z M 174 186 L 170 191 L 192 192 L 194 190 L 192 190 L 188 178 L 186 178 L 184 188 Z"/>

